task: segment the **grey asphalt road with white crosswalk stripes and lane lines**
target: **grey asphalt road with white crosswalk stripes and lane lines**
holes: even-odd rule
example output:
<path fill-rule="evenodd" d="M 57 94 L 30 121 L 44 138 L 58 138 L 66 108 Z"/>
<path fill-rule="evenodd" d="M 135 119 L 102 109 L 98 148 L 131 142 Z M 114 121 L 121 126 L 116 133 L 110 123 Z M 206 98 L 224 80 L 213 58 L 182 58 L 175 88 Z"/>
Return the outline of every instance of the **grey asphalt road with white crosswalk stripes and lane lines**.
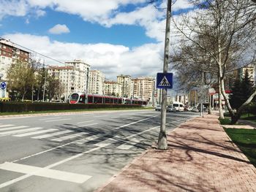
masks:
<path fill-rule="evenodd" d="M 167 131 L 198 115 L 167 113 Z M 154 110 L 0 119 L 0 191 L 94 191 L 157 142 Z"/>

